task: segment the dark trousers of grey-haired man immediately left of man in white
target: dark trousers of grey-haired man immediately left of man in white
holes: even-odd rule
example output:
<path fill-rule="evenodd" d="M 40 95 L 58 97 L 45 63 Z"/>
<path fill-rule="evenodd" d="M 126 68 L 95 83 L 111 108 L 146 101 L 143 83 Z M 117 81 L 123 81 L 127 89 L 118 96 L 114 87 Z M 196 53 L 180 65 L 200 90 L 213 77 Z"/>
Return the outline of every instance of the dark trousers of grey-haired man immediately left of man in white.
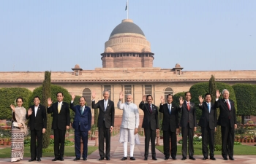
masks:
<path fill-rule="evenodd" d="M 104 154 L 104 140 L 106 141 L 106 153 Z M 105 121 L 99 127 L 99 156 L 110 158 L 110 129 L 106 128 Z"/>

